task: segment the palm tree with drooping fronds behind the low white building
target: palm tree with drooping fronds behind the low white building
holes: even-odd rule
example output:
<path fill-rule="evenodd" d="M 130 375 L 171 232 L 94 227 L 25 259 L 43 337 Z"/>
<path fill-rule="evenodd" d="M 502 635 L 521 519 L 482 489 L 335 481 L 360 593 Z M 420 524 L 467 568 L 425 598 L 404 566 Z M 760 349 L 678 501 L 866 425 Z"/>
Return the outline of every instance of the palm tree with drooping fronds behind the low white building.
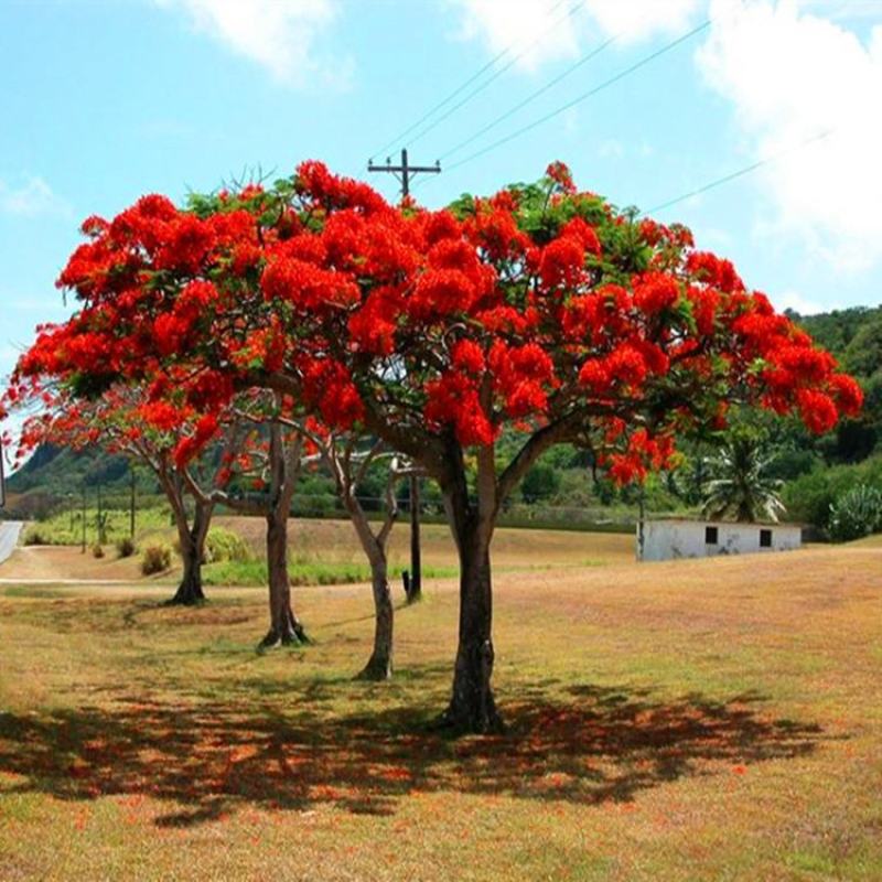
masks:
<path fill-rule="evenodd" d="M 755 437 L 730 438 L 720 454 L 708 462 L 713 477 L 704 484 L 704 517 L 713 520 L 733 514 L 735 520 L 777 521 L 786 509 L 779 492 L 783 481 L 766 476 L 771 456 L 762 455 Z"/>

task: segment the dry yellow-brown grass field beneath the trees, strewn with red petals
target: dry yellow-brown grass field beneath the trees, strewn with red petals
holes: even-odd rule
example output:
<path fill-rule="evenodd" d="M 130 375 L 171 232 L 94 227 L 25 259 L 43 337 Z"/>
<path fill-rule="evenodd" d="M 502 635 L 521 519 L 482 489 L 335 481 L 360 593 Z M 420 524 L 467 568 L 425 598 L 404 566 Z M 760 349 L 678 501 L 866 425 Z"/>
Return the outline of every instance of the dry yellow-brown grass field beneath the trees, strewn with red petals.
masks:
<path fill-rule="evenodd" d="M 452 580 L 385 685 L 364 587 L 298 590 L 315 644 L 267 655 L 255 589 L 0 587 L 0 879 L 882 879 L 882 547 L 561 536 L 499 542 L 491 739 L 426 728 Z"/>

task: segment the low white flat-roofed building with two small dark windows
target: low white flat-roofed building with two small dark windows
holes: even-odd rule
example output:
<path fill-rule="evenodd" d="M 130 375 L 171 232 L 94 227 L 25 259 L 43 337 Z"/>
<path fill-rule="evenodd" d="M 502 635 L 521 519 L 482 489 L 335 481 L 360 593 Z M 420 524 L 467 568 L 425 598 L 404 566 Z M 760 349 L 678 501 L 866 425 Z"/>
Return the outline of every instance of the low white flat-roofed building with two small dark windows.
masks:
<path fill-rule="evenodd" d="M 790 551 L 803 545 L 798 524 L 736 524 L 731 520 L 665 519 L 637 524 L 637 560 L 709 558 Z"/>

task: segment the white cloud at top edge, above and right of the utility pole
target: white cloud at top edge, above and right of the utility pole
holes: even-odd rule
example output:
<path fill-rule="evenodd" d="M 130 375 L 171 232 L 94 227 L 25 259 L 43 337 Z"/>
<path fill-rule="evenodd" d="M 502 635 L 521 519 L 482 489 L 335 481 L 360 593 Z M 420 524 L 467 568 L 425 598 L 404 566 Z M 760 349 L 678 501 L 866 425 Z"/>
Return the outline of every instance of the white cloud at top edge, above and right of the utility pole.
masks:
<path fill-rule="evenodd" d="M 462 35 L 483 40 L 494 54 L 535 69 L 574 58 L 589 44 L 617 36 L 623 43 L 684 30 L 702 0 L 448 0 L 463 17 Z"/>

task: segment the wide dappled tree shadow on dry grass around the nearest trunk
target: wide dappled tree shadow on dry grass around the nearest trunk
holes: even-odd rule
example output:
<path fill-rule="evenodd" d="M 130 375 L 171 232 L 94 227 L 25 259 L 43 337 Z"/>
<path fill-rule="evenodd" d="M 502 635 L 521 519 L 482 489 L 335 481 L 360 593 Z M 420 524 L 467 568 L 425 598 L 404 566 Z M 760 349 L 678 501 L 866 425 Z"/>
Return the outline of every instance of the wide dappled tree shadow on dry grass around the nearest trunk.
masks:
<path fill-rule="evenodd" d="M 155 824 L 186 827 L 248 805 L 333 803 L 388 815 L 419 792 L 628 802 L 685 776 L 798 757 L 827 738 L 817 725 L 770 718 L 756 695 L 719 702 L 598 686 L 566 693 L 551 703 L 547 684 L 521 690 L 523 702 L 503 708 L 504 735 L 454 740 L 428 730 L 427 706 L 340 716 L 305 700 L 276 709 L 237 696 L 176 703 L 120 690 L 110 707 L 0 713 L 0 772 L 17 776 L 7 792 L 171 800 L 175 809 Z"/>

